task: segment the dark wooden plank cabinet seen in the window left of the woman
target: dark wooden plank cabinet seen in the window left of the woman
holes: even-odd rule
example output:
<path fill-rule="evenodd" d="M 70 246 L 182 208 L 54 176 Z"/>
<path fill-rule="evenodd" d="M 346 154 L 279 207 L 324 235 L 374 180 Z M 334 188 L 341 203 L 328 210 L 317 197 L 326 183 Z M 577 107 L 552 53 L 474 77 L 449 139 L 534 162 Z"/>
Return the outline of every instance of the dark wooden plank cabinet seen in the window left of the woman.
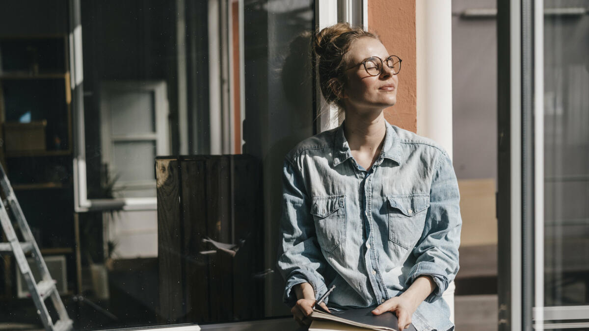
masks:
<path fill-rule="evenodd" d="M 262 317 L 260 161 L 249 155 L 158 157 L 155 168 L 161 320 Z"/>

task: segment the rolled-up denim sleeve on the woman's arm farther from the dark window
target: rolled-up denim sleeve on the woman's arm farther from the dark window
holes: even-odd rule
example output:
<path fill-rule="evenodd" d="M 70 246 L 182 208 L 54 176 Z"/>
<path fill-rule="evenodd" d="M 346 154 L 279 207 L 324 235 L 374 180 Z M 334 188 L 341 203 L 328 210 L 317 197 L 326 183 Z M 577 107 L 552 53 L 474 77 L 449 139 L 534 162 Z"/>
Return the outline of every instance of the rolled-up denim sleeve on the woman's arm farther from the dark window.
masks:
<path fill-rule="evenodd" d="M 416 264 L 409 272 L 406 285 L 419 276 L 431 276 L 438 285 L 425 299 L 431 303 L 442 296 L 459 269 L 460 194 L 452 161 L 446 153 L 442 153 L 434 170 L 429 199 L 423 234 L 413 248 Z"/>

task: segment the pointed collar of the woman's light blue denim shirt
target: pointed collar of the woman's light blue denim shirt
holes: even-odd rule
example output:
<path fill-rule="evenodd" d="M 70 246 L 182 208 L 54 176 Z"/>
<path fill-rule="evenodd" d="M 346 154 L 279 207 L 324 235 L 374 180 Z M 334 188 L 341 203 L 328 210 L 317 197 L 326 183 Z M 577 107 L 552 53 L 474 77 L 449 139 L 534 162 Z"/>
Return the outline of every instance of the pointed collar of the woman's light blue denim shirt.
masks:
<path fill-rule="evenodd" d="M 337 166 L 342 164 L 344 161 L 348 160 L 348 158 L 352 157 L 352 151 L 350 150 L 350 146 L 348 144 L 348 140 L 346 140 L 346 136 L 343 134 L 343 124 L 337 128 L 335 133 L 335 146 L 333 155 L 333 166 Z M 385 133 L 385 143 L 382 147 L 382 152 L 380 153 L 380 157 L 376 160 L 375 164 L 382 163 L 383 158 L 388 158 L 389 160 L 395 161 L 397 164 L 401 164 L 401 155 L 400 155 L 400 148 L 399 148 L 399 135 L 396 133 L 395 129 L 391 124 L 385 121 L 386 125 L 386 133 Z"/>

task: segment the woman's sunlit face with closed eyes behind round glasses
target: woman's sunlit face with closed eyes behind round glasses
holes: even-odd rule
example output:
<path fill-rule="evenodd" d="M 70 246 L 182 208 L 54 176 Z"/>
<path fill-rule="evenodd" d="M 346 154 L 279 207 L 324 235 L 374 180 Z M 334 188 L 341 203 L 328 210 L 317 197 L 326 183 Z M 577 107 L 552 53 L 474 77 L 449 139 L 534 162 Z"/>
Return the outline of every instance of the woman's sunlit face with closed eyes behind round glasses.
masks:
<path fill-rule="evenodd" d="M 371 76 L 360 63 L 369 57 L 383 60 L 389 57 L 385 46 L 377 39 L 363 37 L 353 42 L 348 51 L 349 62 L 346 70 L 347 81 L 343 88 L 343 105 L 346 110 L 380 111 L 397 101 L 399 78 L 392 74 L 386 64 L 380 75 Z"/>

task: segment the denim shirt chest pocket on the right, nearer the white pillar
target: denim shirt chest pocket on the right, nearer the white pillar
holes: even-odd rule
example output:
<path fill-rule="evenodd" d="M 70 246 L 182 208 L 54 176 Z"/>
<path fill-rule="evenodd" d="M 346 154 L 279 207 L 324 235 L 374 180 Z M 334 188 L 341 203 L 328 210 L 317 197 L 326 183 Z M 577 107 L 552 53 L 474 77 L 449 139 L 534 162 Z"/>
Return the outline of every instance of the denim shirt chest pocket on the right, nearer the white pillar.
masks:
<path fill-rule="evenodd" d="M 429 194 L 387 196 L 389 240 L 405 249 L 412 249 L 425 226 Z"/>

